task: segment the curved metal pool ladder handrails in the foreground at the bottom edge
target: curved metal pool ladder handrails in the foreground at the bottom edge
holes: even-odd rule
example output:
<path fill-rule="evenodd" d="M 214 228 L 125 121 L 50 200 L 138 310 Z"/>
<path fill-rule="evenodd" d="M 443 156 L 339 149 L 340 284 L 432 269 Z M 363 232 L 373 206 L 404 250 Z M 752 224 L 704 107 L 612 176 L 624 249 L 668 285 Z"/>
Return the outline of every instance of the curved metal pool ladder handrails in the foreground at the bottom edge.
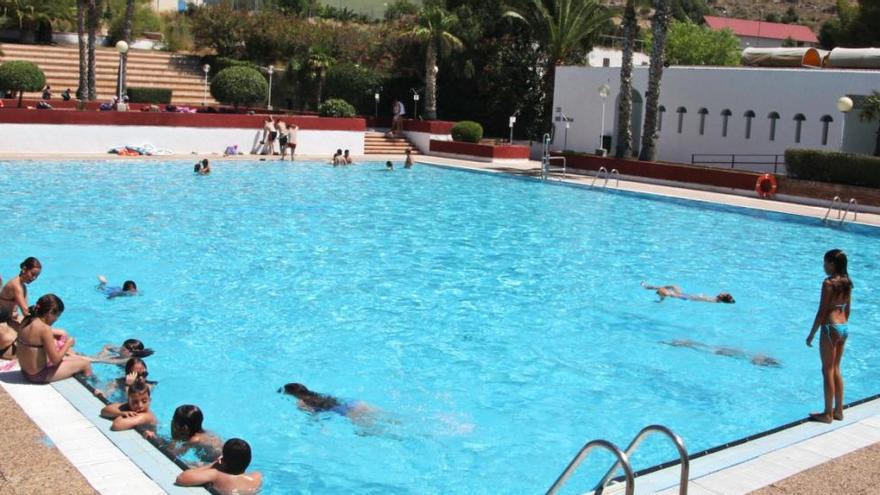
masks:
<path fill-rule="evenodd" d="M 641 445 L 642 441 L 645 438 L 655 433 L 665 435 L 672 441 L 673 444 L 675 444 L 675 448 L 676 450 L 678 450 L 679 463 L 681 464 L 681 477 L 678 485 L 678 493 L 679 495 L 687 495 L 688 476 L 690 475 L 690 456 L 688 455 L 687 448 L 684 445 L 684 440 L 682 440 L 680 436 L 675 434 L 675 432 L 663 425 L 649 425 L 642 428 L 642 431 L 640 431 L 638 435 L 636 435 L 632 439 L 632 441 L 623 451 L 621 451 L 616 445 L 609 442 L 608 440 L 599 439 L 587 442 L 587 444 L 581 448 L 580 452 L 577 453 L 574 459 L 571 460 L 571 462 L 568 464 L 568 467 L 565 468 L 565 471 L 563 471 L 562 474 L 559 475 L 559 478 L 556 479 L 556 481 L 553 483 L 553 486 L 551 486 L 550 489 L 547 490 L 546 495 L 555 495 L 562 488 L 562 485 L 564 485 L 568 481 L 571 475 L 574 474 L 578 466 L 580 466 L 581 462 L 583 462 L 584 459 L 587 458 L 590 452 L 597 448 L 605 449 L 614 454 L 614 456 L 617 458 L 617 462 L 614 463 L 614 465 L 611 466 L 611 469 L 609 469 L 608 472 L 605 473 L 605 476 L 602 477 L 602 479 L 593 489 L 593 494 L 602 495 L 602 493 L 605 491 L 605 488 L 608 486 L 608 483 L 611 481 L 611 477 L 614 476 L 614 474 L 617 473 L 617 470 L 622 467 L 624 482 L 626 483 L 624 487 L 624 493 L 626 495 L 634 495 L 636 483 L 632 466 L 629 462 L 629 456 L 632 455 L 632 453 L 639 448 L 639 445 Z"/>

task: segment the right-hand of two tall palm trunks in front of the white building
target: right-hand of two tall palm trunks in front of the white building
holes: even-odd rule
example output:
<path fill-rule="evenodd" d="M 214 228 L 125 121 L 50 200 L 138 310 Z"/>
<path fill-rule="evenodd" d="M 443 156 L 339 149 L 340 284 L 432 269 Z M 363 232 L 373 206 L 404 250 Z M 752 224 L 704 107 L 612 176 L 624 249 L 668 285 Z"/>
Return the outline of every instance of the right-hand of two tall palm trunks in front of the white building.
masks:
<path fill-rule="evenodd" d="M 654 33 L 651 66 L 648 69 L 648 97 L 645 102 L 645 130 L 639 160 L 652 162 L 657 158 L 657 115 L 660 112 L 660 80 L 666 63 L 666 34 L 669 30 L 669 0 L 654 0 Z"/>

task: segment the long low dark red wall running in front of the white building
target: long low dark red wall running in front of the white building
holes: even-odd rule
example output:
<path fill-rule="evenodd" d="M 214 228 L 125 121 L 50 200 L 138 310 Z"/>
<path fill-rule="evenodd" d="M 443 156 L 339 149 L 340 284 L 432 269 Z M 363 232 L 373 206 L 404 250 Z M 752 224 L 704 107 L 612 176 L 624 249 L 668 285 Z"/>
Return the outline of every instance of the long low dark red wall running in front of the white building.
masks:
<path fill-rule="evenodd" d="M 605 167 L 608 170 L 616 168 L 623 175 L 671 180 L 676 182 L 690 182 L 693 184 L 704 184 L 708 186 L 729 187 L 732 189 L 754 189 L 758 176 L 761 175 L 735 170 L 693 167 L 675 163 L 620 160 L 617 158 L 604 158 L 590 155 L 554 153 L 554 156 L 564 156 L 568 168 L 584 170 L 598 170 L 599 167 Z"/>

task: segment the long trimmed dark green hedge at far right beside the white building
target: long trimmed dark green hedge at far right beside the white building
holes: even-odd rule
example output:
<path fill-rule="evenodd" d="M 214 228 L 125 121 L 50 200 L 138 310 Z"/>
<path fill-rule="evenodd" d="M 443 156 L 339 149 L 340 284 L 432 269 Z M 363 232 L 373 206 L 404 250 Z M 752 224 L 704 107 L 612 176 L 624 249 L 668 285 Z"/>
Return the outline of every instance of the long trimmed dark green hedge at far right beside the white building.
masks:
<path fill-rule="evenodd" d="M 786 150 L 785 167 L 793 179 L 880 188 L 880 158 L 821 150 Z"/>

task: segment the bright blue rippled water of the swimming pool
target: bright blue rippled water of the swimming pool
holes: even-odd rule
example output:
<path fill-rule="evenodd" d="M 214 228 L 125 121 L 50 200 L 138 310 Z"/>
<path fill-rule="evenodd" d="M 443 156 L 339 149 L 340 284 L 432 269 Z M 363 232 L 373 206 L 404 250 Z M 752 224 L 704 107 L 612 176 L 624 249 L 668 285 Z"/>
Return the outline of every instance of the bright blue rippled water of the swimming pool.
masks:
<path fill-rule="evenodd" d="M 153 408 L 247 439 L 264 493 L 536 493 L 587 440 L 662 423 L 693 452 L 821 405 L 822 255 L 856 284 L 847 398 L 880 392 L 867 228 L 429 166 L 0 162 L 4 280 L 37 256 L 77 349 L 138 337 Z M 105 300 L 95 275 L 132 278 Z M 733 293 L 655 302 L 642 280 Z M 689 339 L 779 360 L 665 345 Z M 114 376 L 109 367 L 102 378 Z M 363 431 L 285 382 L 369 402 Z M 649 440 L 635 466 L 674 457 Z M 599 457 L 601 464 L 608 458 Z M 600 463 L 570 482 L 595 482 Z"/>

